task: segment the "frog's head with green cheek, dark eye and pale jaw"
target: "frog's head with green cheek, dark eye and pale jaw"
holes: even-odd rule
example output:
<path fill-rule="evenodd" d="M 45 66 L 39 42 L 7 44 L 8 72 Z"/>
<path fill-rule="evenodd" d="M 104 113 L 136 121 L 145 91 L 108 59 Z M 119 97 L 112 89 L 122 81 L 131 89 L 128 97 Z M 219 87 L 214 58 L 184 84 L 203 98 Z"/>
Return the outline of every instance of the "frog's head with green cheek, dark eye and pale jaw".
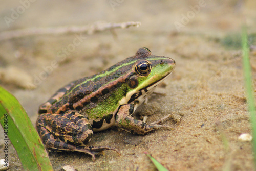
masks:
<path fill-rule="evenodd" d="M 120 105 L 133 101 L 142 103 L 176 66 L 173 59 L 152 55 L 148 48 L 140 48 L 135 56 L 128 59 L 135 62 L 127 78 L 126 96 L 119 101 Z"/>

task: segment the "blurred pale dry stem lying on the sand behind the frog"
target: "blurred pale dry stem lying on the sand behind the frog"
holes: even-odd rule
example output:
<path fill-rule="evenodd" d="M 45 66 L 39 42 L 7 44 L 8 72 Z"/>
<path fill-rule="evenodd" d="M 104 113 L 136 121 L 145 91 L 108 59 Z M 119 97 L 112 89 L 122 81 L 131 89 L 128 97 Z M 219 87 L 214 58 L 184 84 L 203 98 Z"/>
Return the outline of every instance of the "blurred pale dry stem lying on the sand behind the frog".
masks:
<path fill-rule="evenodd" d="M 95 22 L 91 25 L 86 26 L 64 26 L 55 28 L 28 28 L 22 30 L 12 30 L 0 33 L 0 41 L 20 38 L 34 35 L 60 35 L 60 34 L 74 34 L 74 33 L 85 33 L 93 34 L 95 32 L 101 32 L 105 30 L 111 30 L 115 28 L 129 28 L 131 26 L 139 27 L 140 22 L 120 22 L 120 23 L 106 23 L 106 22 Z"/>

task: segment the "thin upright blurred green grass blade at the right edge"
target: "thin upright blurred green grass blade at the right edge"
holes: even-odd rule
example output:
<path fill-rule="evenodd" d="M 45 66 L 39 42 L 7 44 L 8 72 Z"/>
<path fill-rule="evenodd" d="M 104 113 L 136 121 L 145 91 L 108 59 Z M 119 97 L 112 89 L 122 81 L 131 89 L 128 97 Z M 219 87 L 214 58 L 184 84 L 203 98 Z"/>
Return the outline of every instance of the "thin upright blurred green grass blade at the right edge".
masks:
<path fill-rule="evenodd" d="M 242 46 L 243 46 L 243 69 L 244 69 L 244 78 L 245 78 L 245 88 L 247 103 L 250 112 L 250 119 L 252 125 L 252 147 L 254 151 L 254 164 L 256 165 L 256 111 L 255 111 L 255 101 L 254 101 L 254 91 L 251 80 L 251 66 L 249 60 L 249 47 L 248 47 L 248 38 L 246 28 L 242 29 Z"/>

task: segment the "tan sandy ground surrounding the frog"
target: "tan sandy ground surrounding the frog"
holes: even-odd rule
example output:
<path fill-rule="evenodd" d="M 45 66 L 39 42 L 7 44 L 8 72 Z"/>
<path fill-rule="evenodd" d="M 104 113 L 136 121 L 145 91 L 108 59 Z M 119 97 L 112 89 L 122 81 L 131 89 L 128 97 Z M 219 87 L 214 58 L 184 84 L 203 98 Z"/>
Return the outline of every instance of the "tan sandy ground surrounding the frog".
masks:
<path fill-rule="evenodd" d="M 13 10 L 25 10 L 12 22 Z M 172 114 L 166 125 L 144 136 L 117 128 L 94 134 L 89 145 L 113 146 L 93 162 L 81 153 L 50 153 L 54 170 L 71 165 L 77 170 L 156 170 L 144 152 L 168 170 L 252 170 L 251 142 L 238 139 L 250 133 L 243 85 L 239 35 L 246 23 L 255 34 L 255 1 L 34 1 L 22 5 L 5 1 L 0 7 L 0 30 L 87 25 L 96 21 L 140 21 L 138 28 L 115 29 L 86 37 L 64 61 L 52 67 L 59 51 L 78 36 L 30 36 L 0 42 L 0 83 L 17 97 L 35 124 L 38 106 L 72 80 L 90 76 L 123 60 L 141 47 L 175 59 L 171 77 L 136 114 L 148 123 Z M 9 25 L 9 27 L 8 27 Z M 251 44 L 255 45 L 253 35 Z M 256 82 L 256 52 L 250 52 Z M 48 75 L 44 75 L 47 68 Z M 35 89 L 26 89 L 27 83 Z M 2 135 L 3 130 L 0 129 Z M 3 137 L 0 137 L 0 156 Z M 224 141 L 227 145 L 224 145 Z M 9 147 L 10 170 L 23 170 Z M 1 157 L 2 158 L 2 157 Z"/>

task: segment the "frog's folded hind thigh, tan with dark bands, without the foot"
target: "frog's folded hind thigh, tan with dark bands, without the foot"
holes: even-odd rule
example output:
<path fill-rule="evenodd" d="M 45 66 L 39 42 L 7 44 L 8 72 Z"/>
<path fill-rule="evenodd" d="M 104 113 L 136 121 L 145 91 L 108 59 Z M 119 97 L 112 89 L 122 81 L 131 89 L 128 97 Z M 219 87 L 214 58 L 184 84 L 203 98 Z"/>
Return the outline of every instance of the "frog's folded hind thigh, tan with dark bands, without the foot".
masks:
<path fill-rule="evenodd" d="M 63 114 L 41 114 L 37 129 L 47 148 L 52 148 L 52 145 L 57 143 L 56 140 L 68 144 L 85 145 L 93 136 L 88 119 L 75 111 L 67 111 Z"/>

